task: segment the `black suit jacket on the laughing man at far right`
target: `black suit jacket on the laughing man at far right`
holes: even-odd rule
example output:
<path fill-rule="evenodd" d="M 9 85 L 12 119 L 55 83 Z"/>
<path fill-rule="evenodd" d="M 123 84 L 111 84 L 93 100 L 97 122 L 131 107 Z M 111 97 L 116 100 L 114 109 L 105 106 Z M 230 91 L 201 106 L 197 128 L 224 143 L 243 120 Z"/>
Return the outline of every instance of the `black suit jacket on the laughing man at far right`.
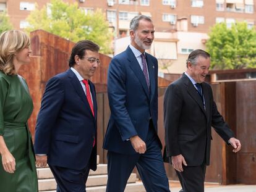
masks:
<path fill-rule="evenodd" d="M 203 82 L 202 91 L 205 108 L 187 75 L 168 86 L 164 94 L 165 160 L 182 154 L 189 166 L 209 165 L 211 126 L 226 142 L 234 136 L 218 112 L 211 86 Z"/>

